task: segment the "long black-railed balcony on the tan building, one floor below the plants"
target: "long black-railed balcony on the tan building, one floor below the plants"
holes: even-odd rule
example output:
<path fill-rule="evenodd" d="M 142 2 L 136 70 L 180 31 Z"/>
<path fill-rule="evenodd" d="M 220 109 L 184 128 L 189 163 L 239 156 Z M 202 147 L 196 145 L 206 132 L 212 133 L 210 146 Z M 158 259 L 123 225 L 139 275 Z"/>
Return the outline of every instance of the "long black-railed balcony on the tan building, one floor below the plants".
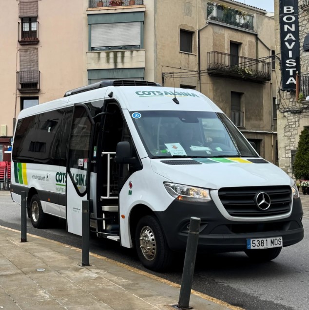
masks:
<path fill-rule="evenodd" d="M 271 79 L 270 62 L 216 51 L 208 52 L 207 57 L 209 75 L 255 83 L 264 83 Z"/>

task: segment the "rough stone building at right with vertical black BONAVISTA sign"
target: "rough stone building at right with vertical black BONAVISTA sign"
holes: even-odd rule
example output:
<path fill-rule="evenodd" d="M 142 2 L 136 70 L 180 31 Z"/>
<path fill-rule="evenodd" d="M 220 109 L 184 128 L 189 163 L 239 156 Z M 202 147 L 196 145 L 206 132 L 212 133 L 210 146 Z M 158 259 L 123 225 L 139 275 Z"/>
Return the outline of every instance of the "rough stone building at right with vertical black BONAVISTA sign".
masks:
<path fill-rule="evenodd" d="M 281 58 L 276 71 L 280 81 L 279 166 L 293 177 L 299 135 L 303 129 L 309 130 L 309 1 L 275 0 L 274 5 L 276 53 Z"/>

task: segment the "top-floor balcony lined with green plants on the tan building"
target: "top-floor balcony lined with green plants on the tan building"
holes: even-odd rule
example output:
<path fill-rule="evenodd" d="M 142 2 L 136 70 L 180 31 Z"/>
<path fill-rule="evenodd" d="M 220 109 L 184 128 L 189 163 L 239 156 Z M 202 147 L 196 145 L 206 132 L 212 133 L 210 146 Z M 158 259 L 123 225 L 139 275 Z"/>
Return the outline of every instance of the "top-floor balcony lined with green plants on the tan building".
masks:
<path fill-rule="evenodd" d="M 207 19 L 253 31 L 252 14 L 229 8 L 224 4 L 207 2 Z"/>

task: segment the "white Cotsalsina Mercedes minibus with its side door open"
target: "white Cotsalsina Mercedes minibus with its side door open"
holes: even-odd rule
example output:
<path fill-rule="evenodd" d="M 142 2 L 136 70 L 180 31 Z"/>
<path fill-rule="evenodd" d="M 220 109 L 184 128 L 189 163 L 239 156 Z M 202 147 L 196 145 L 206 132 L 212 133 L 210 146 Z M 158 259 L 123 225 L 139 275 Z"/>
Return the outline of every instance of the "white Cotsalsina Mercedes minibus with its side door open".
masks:
<path fill-rule="evenodd" d="M 201 219 L 198 252 L 267 261 L 304 237 L 295 182 L 189 89 L 101 81 L 23 109 L 11 179 L 34 227 L 58 217 L 81 235 L 88 200 L 91 232 L 135 247 L 157 271 L 185 251 L 191 217 Z"/>

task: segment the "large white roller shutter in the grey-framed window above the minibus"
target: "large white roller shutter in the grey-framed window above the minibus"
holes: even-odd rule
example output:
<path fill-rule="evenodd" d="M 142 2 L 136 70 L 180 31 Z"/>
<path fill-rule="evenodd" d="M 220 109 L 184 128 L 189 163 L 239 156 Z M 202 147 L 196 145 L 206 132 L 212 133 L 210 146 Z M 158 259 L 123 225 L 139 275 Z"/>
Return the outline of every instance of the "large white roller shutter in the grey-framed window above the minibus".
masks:
<path fill-rule="evenodd" d="M 91 47 L 140 45 L 140 22 L 91 25 Z"/>

